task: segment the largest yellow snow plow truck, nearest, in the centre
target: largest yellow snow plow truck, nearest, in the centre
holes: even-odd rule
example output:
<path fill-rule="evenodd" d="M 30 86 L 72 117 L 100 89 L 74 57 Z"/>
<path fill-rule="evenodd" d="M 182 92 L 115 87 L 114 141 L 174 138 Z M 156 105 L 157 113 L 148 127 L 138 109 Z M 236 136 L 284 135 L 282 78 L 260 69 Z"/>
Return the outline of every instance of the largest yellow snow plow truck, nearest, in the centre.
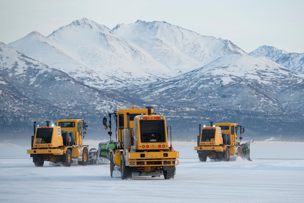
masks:
<path fill-rule="evenodd" d="M 110 136 L 111 117 L 116 123 L 116 140 L 110 141 L 114 147 L 109 149 L 110 175 L 131 179 L 135 176 L 164 176 L 173 179 L 175 166 L 178 165 L 179 152 L 174 151 L 168 142 L 166 118 L 162 114 L 155 114 L 153 107 L 146 109 L 119 109 L 103 118 L 105 129 Z M 109 117 L 109 124 L 107 124 Z M 171 141 L 170 141 L 171 142 Z M 109 144 L 108 144 L 109 145 Z"/>

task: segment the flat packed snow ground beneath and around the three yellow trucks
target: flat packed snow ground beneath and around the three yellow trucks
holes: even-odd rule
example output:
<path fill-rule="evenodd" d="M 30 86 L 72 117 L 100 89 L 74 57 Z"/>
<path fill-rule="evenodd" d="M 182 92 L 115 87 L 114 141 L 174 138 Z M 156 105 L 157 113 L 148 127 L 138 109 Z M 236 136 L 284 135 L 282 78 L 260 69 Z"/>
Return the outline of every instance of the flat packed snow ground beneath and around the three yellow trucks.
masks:
<path fill-rule="evenodd" d="M 303 202 L 303 142 L 253 142 L 252 162 L 200 162 L 195 145 L 173 143 L 172 180 L 111 178 L 108 163 L 35 167 L 28 147 L 0 145 L 0 202 Z"/>

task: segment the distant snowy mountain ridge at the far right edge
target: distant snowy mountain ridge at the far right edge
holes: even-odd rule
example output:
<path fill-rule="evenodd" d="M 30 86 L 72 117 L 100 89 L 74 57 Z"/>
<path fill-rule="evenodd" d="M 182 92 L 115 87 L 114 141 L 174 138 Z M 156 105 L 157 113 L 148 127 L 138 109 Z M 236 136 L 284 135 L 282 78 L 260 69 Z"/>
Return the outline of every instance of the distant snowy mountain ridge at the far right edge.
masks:
<path fill-rule="evenodd" d="M 250 55 L 263 55 L 285 68 L 304 73 L 304 53 L 287 53 L 284 50 L 264 45 L 250 52 Z"/>

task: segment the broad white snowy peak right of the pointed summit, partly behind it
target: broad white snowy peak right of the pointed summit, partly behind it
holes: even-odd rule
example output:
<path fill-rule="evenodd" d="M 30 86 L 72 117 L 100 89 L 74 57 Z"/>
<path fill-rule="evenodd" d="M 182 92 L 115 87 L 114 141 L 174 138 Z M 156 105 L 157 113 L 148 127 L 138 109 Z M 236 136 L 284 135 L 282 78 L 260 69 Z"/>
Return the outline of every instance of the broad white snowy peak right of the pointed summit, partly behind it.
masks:
<path fill-rule="evenodd" d="M 166 22 L 138 20 L 119 24 L 112 31 L 151 54 L 174 75 L 207 65 L 225 54 L 245 53 L 228 40 L 203 36 Z"/>

